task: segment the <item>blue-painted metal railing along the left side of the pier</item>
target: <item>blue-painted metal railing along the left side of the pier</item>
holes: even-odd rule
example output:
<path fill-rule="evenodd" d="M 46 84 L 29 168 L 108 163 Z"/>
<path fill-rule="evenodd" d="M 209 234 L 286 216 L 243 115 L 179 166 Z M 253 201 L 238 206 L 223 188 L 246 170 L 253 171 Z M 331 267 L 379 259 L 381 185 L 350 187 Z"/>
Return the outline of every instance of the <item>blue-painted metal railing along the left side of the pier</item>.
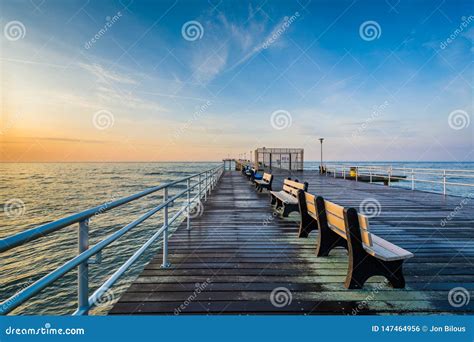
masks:
<path fill-rule="evenodd" d="M 101 296 L 110 289 L 114 283 L 127 271 L 130 266 L 155 242 L 159 237 L 162 237 L 163 250 L 163 268 L 170 267 L 168 261 L 168 234 L 170 225 L 176 221 L 183 214 L 186 215 L 187 229 L 191 228 L 190 211 L 196 203 L 200 204 L 202 198 L 207 200 L 208 194 L 216 186 L 222 173 L 224 166 L 208 169 L 206 171 L 190 175 L 178 179 L 173 182 L 162 184 L 156 187 L 146 189 L 137 194 L 121 198 L 119 200 L 104 203 L 94 208 L 87 209 L 77 214 L 73 214 L 62 219 L 26 230 L 24 232 L 15 234 L 13 236 L 0 240 L 0 253 L 13 249 L 15 247 L 24 245 L 32 240 L 44 237 L 50 233 L 56 232 L 60 229 L 68 227 L 72 224 L 78 224 L 78 255 L 71 260 L 64 263 L 62 266 L 56 268 L 54 271 L 48 273 L 41 279 L 37 280 L 28 287 L 22 289 L 20 292 L 6 299 L 0 304 L 0 315 L 6 315 L 28 299 L 35 296 L 44 288 L 51 285 L 53 282 L 63 277 L 66 273 L 78 267 L 77 278 L 77 297 L 78 307 L 74 315 L 87 315 L 89 310 L 94 307 Z M 186 188 L 173 196 L 169 196 L 168 190 L 170 187 L 178 184 L 186 184 Z M 191 198 L 191 192 L 197 189 L 197 194 Z M 89 248 L 89 219 L 97 214 L 103 214 L 109 210 L 120 207 L 124 204 L 133 202 L 139 198 L 156 193 L 163 192 L 163 202 L 153 209 L 149 210 L 138 219 L 122 227 L 118 231 L 109 235 L 93 247 Z M 178 210 L 171 218 L 168 217 L 168 208 L 174 204 L 179 198 L 185 196 L 185 204 Z M 151 236 L 124 264 L 122 264 L 108 279 L 105 281 L 94 293 L 89 296 L 89 259 L 95 255 L 100 257 L 101 251 L 109 246 L 111 243 L 128 233 L 154 214 L 163 211 L 163 225 L 158 229 L 153 236 Z M 100 259 L 100 258 L 99 258 Z"/>

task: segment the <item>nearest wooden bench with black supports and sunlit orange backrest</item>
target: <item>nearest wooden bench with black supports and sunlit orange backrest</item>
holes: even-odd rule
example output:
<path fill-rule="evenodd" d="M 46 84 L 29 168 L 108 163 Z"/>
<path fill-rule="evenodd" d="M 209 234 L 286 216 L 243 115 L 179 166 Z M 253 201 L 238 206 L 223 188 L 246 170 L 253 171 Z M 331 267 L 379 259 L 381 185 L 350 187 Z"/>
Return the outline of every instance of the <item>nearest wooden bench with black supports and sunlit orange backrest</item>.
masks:
<path fill-rule="evenodd" d="M 387 278 L 394 288 L 405 287 L 403 261 L 413 257 L 411 252 L 371 233 L 368 217 L 354 208 L 344 208 L 307 193 L 300 193 L 298 198 L 300 206 L 306 206 L 300 236 L 306 237 L 316 229 L 314 221 L 317 222 L 317 256 L 327 256 L 335 247 L 347 248 L 346 288 L 362 288 L 367 279 L 377 275 Z M 308 223 L 310 220 L 313 222 Z"/>

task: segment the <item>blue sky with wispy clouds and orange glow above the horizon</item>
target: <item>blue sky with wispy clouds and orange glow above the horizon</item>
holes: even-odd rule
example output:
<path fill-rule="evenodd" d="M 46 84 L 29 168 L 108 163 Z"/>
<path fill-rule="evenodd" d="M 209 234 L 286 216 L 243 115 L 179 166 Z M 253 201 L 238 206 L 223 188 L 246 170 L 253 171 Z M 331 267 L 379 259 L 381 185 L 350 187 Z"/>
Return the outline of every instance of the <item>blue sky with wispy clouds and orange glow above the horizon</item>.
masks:
<path fill-rule="evenodd" d="M 472 1 L 0 4 L 0 161 L 473 161 Z"/>

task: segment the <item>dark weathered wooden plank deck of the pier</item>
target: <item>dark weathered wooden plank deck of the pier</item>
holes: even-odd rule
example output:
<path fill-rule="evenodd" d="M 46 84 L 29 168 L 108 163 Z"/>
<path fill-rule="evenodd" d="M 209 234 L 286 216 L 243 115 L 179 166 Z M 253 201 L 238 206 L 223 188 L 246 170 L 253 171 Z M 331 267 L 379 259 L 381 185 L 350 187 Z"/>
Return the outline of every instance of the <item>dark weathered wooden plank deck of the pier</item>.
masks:
<path fill-rule="evenodd" d="M 257 193 L 240 172 L 226 171 L 192 229 L 182 224 L 170 237 L 172 267 L 161 269 L 158 254 L 109 314 L 474 313 L 474 199 L 316 171 L 272 173 L 274 189 L 291 176 L 343 206 L 377 200 L 381 212 L 370 219 L 371 231 L 415 255 L 404 266 L 406 288 L 392 289 L 380 277 L 362 290 L 344 288 L 345 250 L 316 257 L 317 232 L 298 238 L 299 215 L 276 216 L 265 191 Z M 470 302 L 450 303 L 455 288 L 467 290 Z M 272 291 L 280 290 L 283 303 L 275 303 Z"/>

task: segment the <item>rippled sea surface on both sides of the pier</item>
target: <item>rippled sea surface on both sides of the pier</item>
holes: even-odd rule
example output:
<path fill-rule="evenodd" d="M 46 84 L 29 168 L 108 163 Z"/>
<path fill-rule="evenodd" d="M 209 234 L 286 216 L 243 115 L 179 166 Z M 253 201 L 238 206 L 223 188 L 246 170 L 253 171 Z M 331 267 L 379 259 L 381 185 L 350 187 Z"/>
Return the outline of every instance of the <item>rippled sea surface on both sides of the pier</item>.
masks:
<path fill-rule="evenodd" d="M 348 163 L 361 165 L 363 163 Z M 474 170 L 474 163 L 365 163 L 408 168 Z M 131 195 L 151 186 L 170 182 L 208 169 L 217 163 L 31 163 L 0 164 L 0 238 L 37 225 Z M 317 162 L 305 163 L 306 169 L 317 169 Z M 426 176 L 431 177 L 431 176 Z M 428 178 L 429 179 L 429 178 Z M 453 179 L 473 183 L 473 179 Z M 183 184 L 184 186 L 184 184 Z M 183 189 L 175 186 L 170 195 Z M 402 182 L 396 186 L 410 187 Z M 417 183 L 417 189 L 441 191 L 440 185 Z M 474 188 L 449 187 L 451 194 L 462 196 Z M 22 210 L 4 210 L 7 203 L 20 200 Z M 90 223 L 90 245 L 96 244 L 147 209 L 162 201 L 162 193 L 146 196 L 138 201 L 94 217 Z M 180 205 L 171 208 L 170 215 Z M 91 293 L 126 261 L 162 225 L 156 214 L 103 251 L 102 263 L 90 269 Z M 108 293 L 103 303 L 93 310 L 105 314 L 131 280 L 158 251 L 156 243 Z M 77 225 L 64 228 L 47 237 L 3 253 L 0 259 L 0 300 L 3 301 L 40 277 L 62 265 L 77 254 Z M 68 273 L 33 297 L 14 314 L 70 314 L 76 308 L 76 271 Z"/>

